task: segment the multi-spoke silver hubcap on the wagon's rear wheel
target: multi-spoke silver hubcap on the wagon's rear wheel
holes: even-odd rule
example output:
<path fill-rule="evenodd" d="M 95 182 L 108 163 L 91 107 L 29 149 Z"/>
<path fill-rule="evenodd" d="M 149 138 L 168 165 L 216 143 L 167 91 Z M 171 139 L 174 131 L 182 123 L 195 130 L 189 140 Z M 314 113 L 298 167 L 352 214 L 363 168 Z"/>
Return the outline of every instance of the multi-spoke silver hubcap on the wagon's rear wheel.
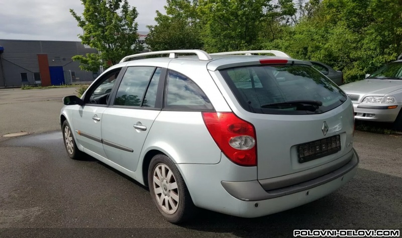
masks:
<path fill-rule="evenodd" d="M 162 210 L 168 214 L 176 212 L 179 204 L 179 190 L 176 178 L 165 164 L 158 164 L 153 171 L 155 198 Z"/>

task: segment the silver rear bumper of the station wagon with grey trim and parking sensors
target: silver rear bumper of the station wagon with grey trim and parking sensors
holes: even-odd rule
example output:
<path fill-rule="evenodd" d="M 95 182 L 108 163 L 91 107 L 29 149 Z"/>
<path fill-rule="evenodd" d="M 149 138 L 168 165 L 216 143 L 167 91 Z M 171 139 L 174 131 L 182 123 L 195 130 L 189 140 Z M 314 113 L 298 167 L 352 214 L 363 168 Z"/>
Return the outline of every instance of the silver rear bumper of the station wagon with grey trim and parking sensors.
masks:
<path fill-rule="evenodd" d="M 222 167 L 228 169 L 226 160 L 222 158 L 221 163 L 209 166 L 177 166 L 196 206 L 240 217 L 269 215 L 324 197 L 350 181 L 355 176 L 359 163 L 359 157 L 353 149 L 351 161 L 342 168 L 317 179 L 282 188 L 281 194 L 278 191 L 275 194 L 265 191 L 258 180 L 222 182 L 225 180 L 220 177 L 224 177 L 226 173 L 218 171 L 222 163 Z"/>

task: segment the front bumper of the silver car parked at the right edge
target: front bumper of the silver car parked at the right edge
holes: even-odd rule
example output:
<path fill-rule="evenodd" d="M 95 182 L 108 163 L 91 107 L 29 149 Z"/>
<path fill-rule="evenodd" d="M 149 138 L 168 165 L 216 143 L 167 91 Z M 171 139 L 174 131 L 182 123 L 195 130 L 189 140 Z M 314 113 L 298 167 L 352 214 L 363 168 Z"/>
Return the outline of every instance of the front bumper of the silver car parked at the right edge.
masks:
<path fill-rule="evenodd" d="M 397 105 L 396 108 L 387 109 L 387 106 Z M 374 121 L 374 122 L 389 122 L 393 123 L 396 120 L 396 116 L 400 111 L 402 104 L 395 103 L 389 105 L 364 105 L 353 103 L 355 110 L 355 118 L 357 120 Z M 374 114 L 374 115 L 370 115 Z"/>

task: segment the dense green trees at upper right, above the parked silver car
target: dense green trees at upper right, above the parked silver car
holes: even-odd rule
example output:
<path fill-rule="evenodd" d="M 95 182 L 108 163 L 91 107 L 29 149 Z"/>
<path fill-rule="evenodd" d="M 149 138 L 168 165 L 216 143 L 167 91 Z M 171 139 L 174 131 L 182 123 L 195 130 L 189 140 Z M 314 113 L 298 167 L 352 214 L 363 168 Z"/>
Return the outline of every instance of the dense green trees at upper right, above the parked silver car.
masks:
<path fill-rule="evenodd" d="M 402 1 L 314 1 L 313 11 L 283 27 L 282 37 L 265 41 L 265 48 L 327 63 L 342 70 L 347 82 L 363 79 L 402 52 Z"/>

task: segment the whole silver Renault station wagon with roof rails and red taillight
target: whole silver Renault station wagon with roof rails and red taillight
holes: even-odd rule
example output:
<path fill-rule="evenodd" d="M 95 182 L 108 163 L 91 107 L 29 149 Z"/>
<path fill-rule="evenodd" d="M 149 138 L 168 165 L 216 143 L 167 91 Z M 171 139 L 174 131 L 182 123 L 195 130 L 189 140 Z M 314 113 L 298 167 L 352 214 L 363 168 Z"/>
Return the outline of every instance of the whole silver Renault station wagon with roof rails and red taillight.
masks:
<path fill-rule="evenodd" d="M 110 92 L 94 93 L 115 75 Z M 350 98 L 279 51 L 131 55 L 63 101 L 68 156 L 88 154 L 149 186 L 172 223 L 197 208 L 287 210 L 336 191 L 358 168 Z"/>

